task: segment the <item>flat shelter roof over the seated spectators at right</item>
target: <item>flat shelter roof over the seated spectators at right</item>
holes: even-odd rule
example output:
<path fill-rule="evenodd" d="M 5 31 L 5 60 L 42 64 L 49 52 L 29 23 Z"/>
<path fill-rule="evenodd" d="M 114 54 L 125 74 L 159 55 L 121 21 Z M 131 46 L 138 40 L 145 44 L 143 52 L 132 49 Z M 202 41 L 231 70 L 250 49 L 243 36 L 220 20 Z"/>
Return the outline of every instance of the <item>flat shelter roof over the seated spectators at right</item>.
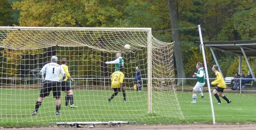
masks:
<path fill-rule="evenodd" d="M 200 41 L 197 41 L 200 43 Z M 204 41 L 204 46 L 215 48 L 221 51 L 230 52 L 244 56 L 242 49 L 247 57 L 256 57 L 256 40 L 241 41 Z"/>

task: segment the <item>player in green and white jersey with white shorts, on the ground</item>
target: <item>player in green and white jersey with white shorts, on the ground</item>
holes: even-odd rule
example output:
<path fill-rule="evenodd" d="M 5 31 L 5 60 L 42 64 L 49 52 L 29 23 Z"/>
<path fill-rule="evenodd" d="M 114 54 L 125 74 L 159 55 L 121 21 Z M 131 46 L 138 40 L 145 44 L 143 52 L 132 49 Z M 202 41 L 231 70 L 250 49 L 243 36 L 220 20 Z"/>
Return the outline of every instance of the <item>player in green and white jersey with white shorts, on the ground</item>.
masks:
<path fill-rule="evenodd" d="M 202 63 L 196 64 L 196 69 L 198 69 L 198 73 L 194 73 L 192 76 L 193 78 L 197 78 L 197 83 L 195 84 L 195 87 L 193 88 L 193 94 L 192 98 L 193 101 L 191 103 L 196 103 L 196 93 L 200 92 L 201 98 L 204 98 L 204 94 L 202 93 L 202 87 L 205 85 L 205 72 L 204 68 L 202 67 Z"/>

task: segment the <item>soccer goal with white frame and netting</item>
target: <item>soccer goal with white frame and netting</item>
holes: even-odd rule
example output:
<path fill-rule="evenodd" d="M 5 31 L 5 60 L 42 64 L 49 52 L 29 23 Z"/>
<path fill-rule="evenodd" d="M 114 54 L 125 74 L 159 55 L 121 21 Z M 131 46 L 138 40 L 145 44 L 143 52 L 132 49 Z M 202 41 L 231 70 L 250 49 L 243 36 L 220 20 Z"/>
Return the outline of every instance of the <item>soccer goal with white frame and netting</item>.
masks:
<path fill-rule="evenodd" d="M 125 44 L 131 45 L 125 49 Z M 177 100 L 173 43 L 161 42 L 151 28 L 0 27 L 0 122 L 170 122 L 183 119 Z M 110 75 L 115 65 L 105 64 L 121 53 L 124 60 L 126 101 L 113 94 Z M 55 115 L 52 92 L 31 116 L 39 97 L 38 73 L 52 56 L 67 59 L 74 79 L 74 104 L 65 106 L 61 92 L 61 116 Z M 140 89 L 134 90 L 136 67 Z M 43 121 L 43 122 L 42 122 Z"/>

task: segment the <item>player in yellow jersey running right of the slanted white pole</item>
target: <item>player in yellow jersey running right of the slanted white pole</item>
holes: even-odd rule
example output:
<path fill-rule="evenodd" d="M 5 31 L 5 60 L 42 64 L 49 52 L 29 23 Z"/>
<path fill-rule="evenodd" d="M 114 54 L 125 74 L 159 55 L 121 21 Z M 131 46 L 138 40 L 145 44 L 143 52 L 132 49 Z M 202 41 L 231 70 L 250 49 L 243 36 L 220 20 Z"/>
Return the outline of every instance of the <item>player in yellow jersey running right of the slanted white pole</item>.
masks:
<path fill-rule="evenodd" d="M 213 65 L 212 71 L 215 73 L 215 80 L 211 82 L 211 85 L 217 85 L 217 87 L 213 90 L 213 94 L 215 98 L 218 100 L 217 104 L 221 104 L 221 99 L 219 96 L 221 96 L 223 99 L 227 101 L 227 103 L 230 103 L 231 101 L 227 99 L 226 96 L 223 95 L 224 88 L 226 88 L 225 81 L 223 77 L 221 76 L 221 73 L 218 71 L 218 66 Z M 217 94 L 219 92 L 219 95 Z"/>

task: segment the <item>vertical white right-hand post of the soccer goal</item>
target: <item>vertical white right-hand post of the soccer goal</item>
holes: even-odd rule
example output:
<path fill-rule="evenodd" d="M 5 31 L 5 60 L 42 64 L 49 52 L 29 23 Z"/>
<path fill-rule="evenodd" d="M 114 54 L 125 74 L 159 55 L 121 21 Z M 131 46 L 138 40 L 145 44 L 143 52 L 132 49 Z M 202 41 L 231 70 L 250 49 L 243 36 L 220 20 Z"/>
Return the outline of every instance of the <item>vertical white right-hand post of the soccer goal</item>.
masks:
<path fill-rule="evenodd" d="M 151 113 L 152 110 L 152 84 L 151 84 L 151 79 L 152 79 L 152 48 L 151 48 L 151 30 L 148 31 L 148 113 Z"/>

